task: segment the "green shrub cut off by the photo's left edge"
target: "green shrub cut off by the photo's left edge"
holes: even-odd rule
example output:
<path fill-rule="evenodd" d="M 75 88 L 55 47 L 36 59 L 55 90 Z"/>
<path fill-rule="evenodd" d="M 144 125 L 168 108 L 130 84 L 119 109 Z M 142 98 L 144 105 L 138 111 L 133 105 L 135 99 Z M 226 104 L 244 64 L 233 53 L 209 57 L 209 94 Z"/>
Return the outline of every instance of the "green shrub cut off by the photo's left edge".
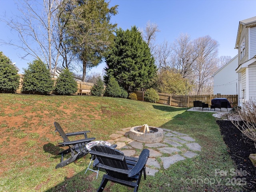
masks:
<path fill-rule="evenodd" d="M 18 89 L 20 77 L 11 60 L 0 52 L 0 92 L 14 92 Z"/>

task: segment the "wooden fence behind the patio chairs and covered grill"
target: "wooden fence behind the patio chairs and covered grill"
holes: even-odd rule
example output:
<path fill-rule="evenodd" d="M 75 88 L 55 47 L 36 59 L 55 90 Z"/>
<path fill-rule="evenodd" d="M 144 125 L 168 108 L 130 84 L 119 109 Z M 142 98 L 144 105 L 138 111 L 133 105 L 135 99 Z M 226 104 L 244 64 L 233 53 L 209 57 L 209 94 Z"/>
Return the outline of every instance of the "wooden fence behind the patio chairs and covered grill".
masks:
<path fill-rule="evenodd" d="M 144 101 L 144 91 L 136 91 L 137 99 Z M 176 107 L 193 107 L 193 101 L 199 100 L 211 105 L 211 100 L 214 98 L 226 98 L 230 105 L 238 105 L 238 95 L 172 95 L 167 93 L 158 93 L 158 103 L 167 104 Z"/>

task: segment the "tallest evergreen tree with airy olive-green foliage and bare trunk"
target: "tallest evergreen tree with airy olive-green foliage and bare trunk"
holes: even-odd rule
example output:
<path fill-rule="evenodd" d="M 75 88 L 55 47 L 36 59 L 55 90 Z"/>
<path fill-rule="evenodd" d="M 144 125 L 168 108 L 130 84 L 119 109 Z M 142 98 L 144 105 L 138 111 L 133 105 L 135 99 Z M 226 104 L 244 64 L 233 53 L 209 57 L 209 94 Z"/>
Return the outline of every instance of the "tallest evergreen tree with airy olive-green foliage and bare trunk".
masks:
<path fill-rule="evenodd" d="M 114 38 L 116 24 L 112 24 L 110 18 L 117 14 L 117 6 L 108 6 L 109 2 L 105 0 L 69 0 L 66 4 L 65 10 L 68 10 L 69 18 L 66 24 L 66 43 L 72 47 L 72 53 L 82 61 L 82 81 L 86 78 L 86 68 L 102 62 Z M 62 17 L 63 21 L 68 19 Z"/>

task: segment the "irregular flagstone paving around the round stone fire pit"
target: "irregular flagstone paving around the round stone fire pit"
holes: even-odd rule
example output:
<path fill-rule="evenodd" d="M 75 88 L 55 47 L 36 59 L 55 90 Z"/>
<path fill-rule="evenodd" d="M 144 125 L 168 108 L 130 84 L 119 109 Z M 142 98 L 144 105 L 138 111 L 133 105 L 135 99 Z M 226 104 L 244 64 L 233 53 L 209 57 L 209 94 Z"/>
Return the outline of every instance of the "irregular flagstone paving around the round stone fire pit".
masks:
<path fill-rule="evenodd" d="M 123 128 L 122 131 L 117 131 L 110 135 L 111 144 L 117 144 L 116 149 L 121 150 L 126 156 L 136 156 L 136 149 L 142 150 L 148 148 L 150 156 L 146 164 L 147 175 L 154 176 L 161 168 L 168 169 L 170 165 L 185 160 L 186 158 L 193 158 L 201 151 L 201 146 L 195 142 L 194 138 L 190 136 L 164 129 L 164 140 L 158 143 L 141 143 L 129 138 L 128 128 Z M 162 155 L 165 154 L 163 157 Z M 157 157 L 159 157 L 157 159 Z"/>

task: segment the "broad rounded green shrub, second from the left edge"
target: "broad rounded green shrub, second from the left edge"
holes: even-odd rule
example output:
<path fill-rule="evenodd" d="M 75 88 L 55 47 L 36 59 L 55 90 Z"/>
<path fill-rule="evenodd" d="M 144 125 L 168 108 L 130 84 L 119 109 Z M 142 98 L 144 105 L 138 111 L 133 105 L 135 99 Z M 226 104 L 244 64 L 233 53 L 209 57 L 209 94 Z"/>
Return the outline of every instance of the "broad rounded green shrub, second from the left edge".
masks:
<path fill-rule="evenodd" d="M 41 60 L 34 60 L 28 64 L 28 69 L 24 69 L 22 91 L 46 95 L 53 90 L 53 84 L 50 70 Z"/>

